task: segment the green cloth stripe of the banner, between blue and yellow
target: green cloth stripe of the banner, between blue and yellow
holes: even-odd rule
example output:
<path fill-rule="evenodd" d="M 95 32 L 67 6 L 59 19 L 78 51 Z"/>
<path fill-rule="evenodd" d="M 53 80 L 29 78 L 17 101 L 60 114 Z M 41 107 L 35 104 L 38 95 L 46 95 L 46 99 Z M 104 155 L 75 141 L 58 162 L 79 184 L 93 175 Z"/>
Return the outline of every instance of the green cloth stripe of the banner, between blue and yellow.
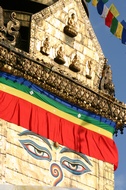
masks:
<path fill-rule="evenodd" d="M 55 107 L 55 108 L 57 108 L 57 109 L 59 109 L 59 110 L 61 110 L 63 112 L 66 112 L 66 113 L 68 113 L 68 114 L 70 114 L 70 115 L 72 115 L 72 116 L 74 116 L 76 118 L 81 119 L 82 122 L 86 121 L 88 123 L 91 123 L 93 125 L 96 125 L 96 126 L 102 128 L 102 129 L 105 129 L 105 130 L 111 132 L 112 134 L 114 133 L 114 128 L 111 127 L 110 125 L 106 125 L 105 123 L 100 122 L 98 120 L 95 120 L 94 118 L 86 116 L 86 115 L 84 115 L 82 113 L 79 114 L 79 112 L 77 112 L 76 110 L 68 108 L 65 105 L 62 105 L 61 103 L 56 102 L 55 100 L 53 100 L 53 99 L 51 99 L 51 98 L 49 98 L 49 97 L 47 97 L 47 96 L 45 96 L 43 94 L 40 94 L 39 92 L 36 92 L 35 90 L 33 91 L 32 89 L 28 88 L 25 85 L 21 85 L 21 84 L 19 84 L 17 82 L 13 82 L 13 81 L 8 80 L 8 79 L 6 80 L 5 78 L 2 78 L 2 77 L 0 77 L 0 82 L 3 83 L 3 84 L 8 85 L 10 87 L 13 87 L 15 89 L 18 89 L 20 91 L 23 91 L 23 92 L 25 92 L 27 94 L 31 94 L 33 97 L 35 97 L 35 98 L 37 98 L 37 99 L 39 99 L 39 100 L 53 106 L 53 107 Z"/>

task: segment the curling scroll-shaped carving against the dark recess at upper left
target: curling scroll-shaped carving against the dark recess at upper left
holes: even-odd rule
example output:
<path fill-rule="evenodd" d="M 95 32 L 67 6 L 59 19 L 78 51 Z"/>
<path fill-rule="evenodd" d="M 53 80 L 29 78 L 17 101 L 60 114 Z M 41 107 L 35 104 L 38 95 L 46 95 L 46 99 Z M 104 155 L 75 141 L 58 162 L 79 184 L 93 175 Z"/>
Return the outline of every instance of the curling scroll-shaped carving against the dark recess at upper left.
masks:
<path fill-rule="evenodd" d="M 0 40 L 5 40 L 11 45 L 16 45 L 19 39 L 20 22 L 16 19 L 16 13 L 12 12 L 7 27 L 4 26 L 3 9 L 0 7 Z"/>

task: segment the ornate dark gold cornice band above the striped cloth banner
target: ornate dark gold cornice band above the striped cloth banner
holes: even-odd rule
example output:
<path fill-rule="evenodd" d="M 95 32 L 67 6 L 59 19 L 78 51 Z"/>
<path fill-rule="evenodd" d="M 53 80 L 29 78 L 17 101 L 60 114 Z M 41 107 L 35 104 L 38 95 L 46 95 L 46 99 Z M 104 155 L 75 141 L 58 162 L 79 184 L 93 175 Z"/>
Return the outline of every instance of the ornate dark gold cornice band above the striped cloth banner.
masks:
<path fill-rule="evenodd" d="M 126 123 L 126 105 L 102 90 L 93 90 L 55 70 L 43 60 L 38 61 L 17 48 L 0 42 L 0 70 L 37 84 L 75 104 L 116 122 L 116 133 L 123 132 Z"/>

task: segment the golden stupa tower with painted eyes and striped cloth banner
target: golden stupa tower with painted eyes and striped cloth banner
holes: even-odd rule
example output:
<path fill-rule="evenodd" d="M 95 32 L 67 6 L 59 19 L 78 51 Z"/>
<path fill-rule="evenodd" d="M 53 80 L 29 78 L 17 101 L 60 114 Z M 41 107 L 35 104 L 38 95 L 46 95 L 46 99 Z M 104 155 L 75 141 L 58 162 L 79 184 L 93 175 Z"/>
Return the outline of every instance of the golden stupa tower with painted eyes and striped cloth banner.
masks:
<path fill-rule="evenodd" d="M 123 133 L 126 105 L 115 98 L 89 2 L 1 0 L 2 189 L 114 190 L 113 136 Z M 95 1 L 100 14 L 106 2 Z"/>

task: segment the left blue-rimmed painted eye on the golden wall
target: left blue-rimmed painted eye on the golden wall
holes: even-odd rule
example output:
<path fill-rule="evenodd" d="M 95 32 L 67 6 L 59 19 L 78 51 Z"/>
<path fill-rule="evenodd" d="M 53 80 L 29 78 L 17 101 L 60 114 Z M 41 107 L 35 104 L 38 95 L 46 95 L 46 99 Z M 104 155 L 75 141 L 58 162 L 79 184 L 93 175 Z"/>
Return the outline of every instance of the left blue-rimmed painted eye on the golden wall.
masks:
<path fill-rule="evenodd" d="M 52 157 L 49 150 L 41 147 L 31 140 L 19 140 L 24 149 L 35 159 L 51 161 Z"/>

